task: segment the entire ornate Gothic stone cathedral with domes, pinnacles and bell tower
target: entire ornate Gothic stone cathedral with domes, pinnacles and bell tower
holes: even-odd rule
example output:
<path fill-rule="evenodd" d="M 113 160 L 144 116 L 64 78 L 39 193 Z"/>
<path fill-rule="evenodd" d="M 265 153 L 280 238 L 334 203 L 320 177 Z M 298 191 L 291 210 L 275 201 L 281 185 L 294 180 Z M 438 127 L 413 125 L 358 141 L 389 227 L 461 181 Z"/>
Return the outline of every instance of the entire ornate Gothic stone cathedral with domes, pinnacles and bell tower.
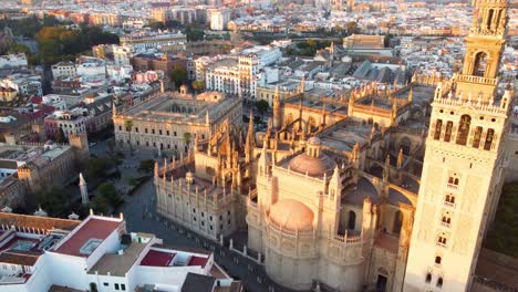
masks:
<path fill-rule="evenodd" d="M 281 285 L 470 291 L 506 165 L 506 0 L 483 0 L 450 80 L 273 94 L 266 132 L 222 123 L 155 169 L 160 213 L 213 239 L 247 227 Z M 435 85 L 435 88 L 429 86 Z"/>

